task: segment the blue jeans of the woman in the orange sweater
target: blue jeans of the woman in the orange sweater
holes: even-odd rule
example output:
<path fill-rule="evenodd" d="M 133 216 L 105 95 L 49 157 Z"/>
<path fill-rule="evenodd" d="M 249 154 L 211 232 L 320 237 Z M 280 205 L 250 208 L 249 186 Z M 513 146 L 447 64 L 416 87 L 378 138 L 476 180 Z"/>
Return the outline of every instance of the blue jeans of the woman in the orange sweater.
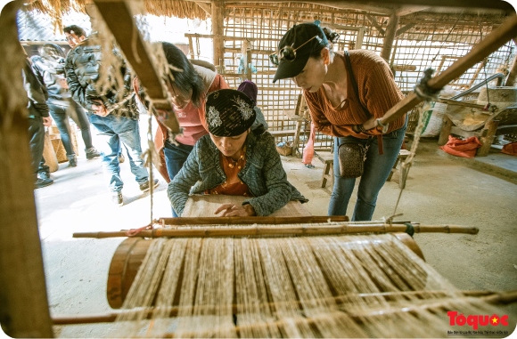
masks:
<path fill-rule="evenodd" d="M 395 165 L 398 152 L 404 141 L 406 127 L 407 120 L 406 125 L 403 127 L 389 134 L 382 135 L 382 149 L 384 149 L 382 156 L 379 155 L 377 137 L 374 136 L 370 142 L 370 148 L 366 153 L 365 172 L 361 177 L 357 190 L 357 202 L 352 221 L 364 222 L 372 220 L 377 196 L 384 182 L 388 179 L 391 168 Z M 331 202 L 329 204 L 329 215 L 347 215 L 349 200 L 356 184 L 356 179 L 343 178 L 340 175 L 338 147 L 340 144 L 350 140 L 349 138 L 362 141 L 364 144 L 367 141 L 352 136 L 334 138 L 334 186 L 332 188 Z"/>

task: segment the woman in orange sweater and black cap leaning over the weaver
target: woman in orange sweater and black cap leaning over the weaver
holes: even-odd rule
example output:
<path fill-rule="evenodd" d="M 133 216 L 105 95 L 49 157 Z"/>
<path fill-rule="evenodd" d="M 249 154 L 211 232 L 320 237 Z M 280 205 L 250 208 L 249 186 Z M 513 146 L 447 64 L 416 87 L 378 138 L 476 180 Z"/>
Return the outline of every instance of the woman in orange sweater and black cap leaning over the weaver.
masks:
<path fill-rule="evenodd" d="M 406 116 L 390 125 L 382 117 L 404 95 L 386 61 L 375 52 L 332 52 L 339 35 L 319 23 L 295 25 L 280 40 L 271 61 L 275 82 L 292 78 L 303 89 L 316 131 L 334 137 L 334 186 L 329 215 L 346 215 L 355 178 L 341 177 L 338 148 L 345 142 L 367 147 L 353 221 L 372 220 L 382 185 L 388 179 L 406 133 Z M 365 129 L 365 125 L 376 126 Z"/>

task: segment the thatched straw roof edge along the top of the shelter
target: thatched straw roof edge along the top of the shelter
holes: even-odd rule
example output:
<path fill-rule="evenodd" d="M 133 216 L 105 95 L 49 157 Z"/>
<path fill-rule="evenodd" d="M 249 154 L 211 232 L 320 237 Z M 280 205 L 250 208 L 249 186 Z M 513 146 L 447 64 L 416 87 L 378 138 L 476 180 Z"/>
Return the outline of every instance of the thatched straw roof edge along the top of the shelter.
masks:
<path fill-rule="evenodd" d="M 63 14 L 85 12 L 93 0 L 34 0 L 28 9 L 48 14 L 57 27 L 62 26 Z M 357 25 L 367 28 L 386 28 L 393 8 L 376 4 L 357 4 L 356 2 L 335 2 L 324 0 L 292 1 L 262 0 L 253 3 L 250 0 L 226 0 L 225 15 L 241 19 L 261 18 L 263 20 L 292 20 L 298 22 L 321 20 L 324 24 Z M 338 8 L 339 7 L 339 8 Z M 209 0 L 144 0 L 145 13 L 187 19 L 207 20 L 211 12 Z M 459 40 L 470 40 L 474 28 L 488 33 L 505 20 L 505 11 L 488 10 L 484 13 L 472 12 L 472 9 L 455 9 L 440 12 L 438 9 L 423 6 L 398 7 L 399 25 L 406 28 L 406 39 L 428 40 L 440 30 L 454 29 Z M 281 21 L 282 22 L 282 21 Z M 400 32 L 402 34 L 402 32 Z M 381 34 L 383 36 L 383 32 Z M 439 36 L 436 36 L 439 39 Z"/>

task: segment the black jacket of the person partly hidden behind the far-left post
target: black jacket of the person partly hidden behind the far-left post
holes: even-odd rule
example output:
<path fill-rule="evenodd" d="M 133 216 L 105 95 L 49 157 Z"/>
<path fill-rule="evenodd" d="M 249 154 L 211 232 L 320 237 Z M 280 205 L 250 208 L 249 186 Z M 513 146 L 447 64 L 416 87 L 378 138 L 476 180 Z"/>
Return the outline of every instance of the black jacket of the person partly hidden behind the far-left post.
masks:
<path fill-rule="evenodd" d="M 23 77 L 23 86 L 29 98 L 29 105 L 27 106 L 29 117 L 48 117 L 49 109 L 46 104 L 48 94 L 46 93 L 45 86 L 39 83 L 37 77 L 32 72 L 32 65 L 29 59 L 25 59 L 21 75 Z"/>

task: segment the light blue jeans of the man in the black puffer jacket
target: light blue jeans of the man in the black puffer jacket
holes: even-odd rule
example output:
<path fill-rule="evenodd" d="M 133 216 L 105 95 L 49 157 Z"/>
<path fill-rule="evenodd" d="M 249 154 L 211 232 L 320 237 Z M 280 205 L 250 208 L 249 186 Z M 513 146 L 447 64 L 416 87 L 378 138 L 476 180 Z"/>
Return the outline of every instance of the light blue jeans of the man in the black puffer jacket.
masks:
<path fill-rule="evenodd" d="M 149 174 L 144 167 L 144 160 L 140 157 L 142 146 L 140 145 L 138 120 L 129 117 L 116 117 L 111 114 L 107 117 L 92 114 L 90 121 L 97 129 L 98 135 L 105 141 L 100 151 L 103 159 L 104 175 L 108 179 L 110 190 L 119 192 L 124 186 L 124 182 L 120 178 L 120 143 L 123 143 L 127 148 L 131 173 L 135 174 L 136 182 L 138 184 L 147 182 Z"/>

